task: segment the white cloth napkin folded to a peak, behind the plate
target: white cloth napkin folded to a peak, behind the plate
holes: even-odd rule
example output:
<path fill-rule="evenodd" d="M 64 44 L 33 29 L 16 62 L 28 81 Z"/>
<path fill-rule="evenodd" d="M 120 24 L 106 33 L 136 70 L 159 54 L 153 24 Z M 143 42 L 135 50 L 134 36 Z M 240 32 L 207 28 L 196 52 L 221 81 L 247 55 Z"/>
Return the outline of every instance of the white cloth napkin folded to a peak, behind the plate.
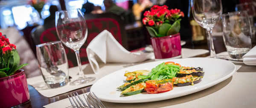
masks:
<path fill-rule="evenodd" d="M 153 53 L 132 53 L 122 47 L 108 30 L 102 31 L 86 48 L 87 57 L 93 72 L 99 71 L 99 64 L 95 55 L 103 63 L 136 63 L 146 59 L 154 59 Z"/>

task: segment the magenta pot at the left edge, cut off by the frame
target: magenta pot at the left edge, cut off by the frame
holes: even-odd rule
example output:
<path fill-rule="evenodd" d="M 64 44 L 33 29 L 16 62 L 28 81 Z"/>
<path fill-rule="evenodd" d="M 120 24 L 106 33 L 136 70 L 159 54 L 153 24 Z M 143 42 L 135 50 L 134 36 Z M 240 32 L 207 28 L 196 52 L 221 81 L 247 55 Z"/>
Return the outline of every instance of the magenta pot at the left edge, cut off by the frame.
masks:
<path fill-rule="evenodd" d="M 22 106 L 30 101 L 24 70 L 18 70 L 14 75 L 0 78 L 0 88 L 1 108 Z"/>

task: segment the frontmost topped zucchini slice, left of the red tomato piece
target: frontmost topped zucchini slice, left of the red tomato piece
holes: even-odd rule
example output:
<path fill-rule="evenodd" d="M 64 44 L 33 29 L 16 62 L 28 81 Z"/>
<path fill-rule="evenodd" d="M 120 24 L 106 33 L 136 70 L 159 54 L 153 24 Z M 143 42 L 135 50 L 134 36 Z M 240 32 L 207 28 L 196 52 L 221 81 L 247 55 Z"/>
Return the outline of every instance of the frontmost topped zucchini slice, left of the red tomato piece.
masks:
<path fill-rule="evenodd" d="M 127 89 L 125 89 L 124 91 L 122 91 L 121 94 L 123 95 L 134 95 L 134 94 L 139 94 L 141 92 L 143 92 L 145 89 L 145 83 L 138 83 L 136 85 L 130 86 Z"/>

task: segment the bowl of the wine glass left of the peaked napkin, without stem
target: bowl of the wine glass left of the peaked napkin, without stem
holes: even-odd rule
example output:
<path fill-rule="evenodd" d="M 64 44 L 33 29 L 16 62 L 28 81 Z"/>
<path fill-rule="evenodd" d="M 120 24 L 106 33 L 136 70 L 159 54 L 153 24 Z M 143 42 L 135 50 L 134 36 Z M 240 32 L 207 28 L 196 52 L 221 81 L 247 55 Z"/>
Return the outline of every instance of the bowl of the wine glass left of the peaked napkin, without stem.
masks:
<path fill-rule="evenodd" d="M 79 50 L 87 38 L 87 26 L 84 17 L 77 10 L 56 12 L 55 25 L 58 38 L 73 50 Z"/>

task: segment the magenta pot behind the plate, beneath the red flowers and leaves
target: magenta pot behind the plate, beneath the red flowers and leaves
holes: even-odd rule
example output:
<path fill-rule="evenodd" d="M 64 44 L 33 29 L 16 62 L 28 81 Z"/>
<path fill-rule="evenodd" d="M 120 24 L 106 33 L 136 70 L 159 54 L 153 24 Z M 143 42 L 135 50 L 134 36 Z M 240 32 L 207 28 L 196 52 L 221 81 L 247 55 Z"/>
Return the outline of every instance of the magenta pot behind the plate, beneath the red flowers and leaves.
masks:
<path fill-rule="evenodd" d="M 181 57 L 180 33 L 151 38 L 156 59 Z"/>

